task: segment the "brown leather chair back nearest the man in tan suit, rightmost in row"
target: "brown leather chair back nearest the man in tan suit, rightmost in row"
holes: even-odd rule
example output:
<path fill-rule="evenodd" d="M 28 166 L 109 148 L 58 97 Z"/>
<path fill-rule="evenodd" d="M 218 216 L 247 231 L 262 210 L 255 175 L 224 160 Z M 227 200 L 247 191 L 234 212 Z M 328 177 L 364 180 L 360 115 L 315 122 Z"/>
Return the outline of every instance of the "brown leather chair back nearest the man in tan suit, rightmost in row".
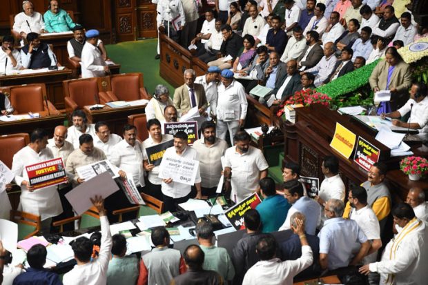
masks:
<path fill-rule="evenodd" d="M 111 75 L 110 85 L 112 92 L 119 100 L 134 101 L 141 99 L 139 88 L 143 88 L 142 73 L 126 73 Z"/>

